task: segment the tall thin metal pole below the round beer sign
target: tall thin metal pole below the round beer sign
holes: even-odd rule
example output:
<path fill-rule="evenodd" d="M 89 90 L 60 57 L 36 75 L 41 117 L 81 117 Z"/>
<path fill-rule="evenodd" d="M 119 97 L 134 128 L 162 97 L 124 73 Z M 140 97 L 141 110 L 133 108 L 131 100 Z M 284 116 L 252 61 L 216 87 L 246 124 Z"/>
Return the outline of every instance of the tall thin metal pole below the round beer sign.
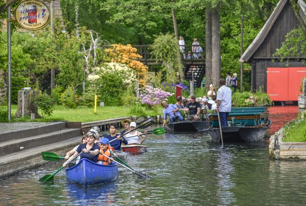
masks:
<path fill-rule="evenodd" d="M 11 7 L 8 7 L 8 119 L 11 122 Z"/>

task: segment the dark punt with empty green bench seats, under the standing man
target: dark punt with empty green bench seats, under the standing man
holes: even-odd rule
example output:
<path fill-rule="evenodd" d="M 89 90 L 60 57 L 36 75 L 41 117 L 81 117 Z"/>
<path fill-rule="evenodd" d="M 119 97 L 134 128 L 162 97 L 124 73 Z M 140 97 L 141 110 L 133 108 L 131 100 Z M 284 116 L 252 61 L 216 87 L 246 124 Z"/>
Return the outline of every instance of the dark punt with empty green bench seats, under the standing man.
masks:
<path fill-rule="evenodd" d="M 211 127 L 207 132 L 215 142 L 221 142 L 218 115 L 209 117 Z M 222 138 L 224 142 L 254 142 L 262 139 L 271 120 L 266 108 L 232 108 L 227 117 L 230 126 L 222 127 Z"/>

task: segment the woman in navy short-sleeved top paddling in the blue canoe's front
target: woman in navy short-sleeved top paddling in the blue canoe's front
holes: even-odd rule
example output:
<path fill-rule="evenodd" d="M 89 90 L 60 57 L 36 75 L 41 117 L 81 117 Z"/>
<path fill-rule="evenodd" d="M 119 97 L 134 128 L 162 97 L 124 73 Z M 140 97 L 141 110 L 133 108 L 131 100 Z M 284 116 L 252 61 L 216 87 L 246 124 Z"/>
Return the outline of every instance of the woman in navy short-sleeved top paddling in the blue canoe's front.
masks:
<path fill-rule="evenodd" d="M 99 145 L 94 143 L 94 141 L 97 139 L 97 135 L 95 132 L 91 131 L 89 131 L 86 135 L 87 142 L 80 144 L 77 151 L 74 152 L 74 154 L 67 160 L 67 162 L 73 160 L 75 156 L 77 156 L 81 151 L 83 151 L 83 153 L 81 153 L 80 159 L 86 158 L 92 162 L 97 162 L 100 151 Z M 63 164 L 63 167 L 68 166 L 67 162 Z"/>

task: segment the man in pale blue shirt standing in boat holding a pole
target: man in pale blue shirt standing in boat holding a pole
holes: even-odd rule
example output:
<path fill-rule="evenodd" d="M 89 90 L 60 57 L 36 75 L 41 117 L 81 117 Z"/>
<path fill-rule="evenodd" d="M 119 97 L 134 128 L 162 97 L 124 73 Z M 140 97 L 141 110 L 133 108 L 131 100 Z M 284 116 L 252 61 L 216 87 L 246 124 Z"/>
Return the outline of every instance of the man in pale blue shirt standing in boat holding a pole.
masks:
<path fill-rule="evenodd" d="M 225 86 L 225 80 L 219 80 L 220 88 L 217 93 L 217 112 L 219 113 L 219 118 L 221 126 L 228 126 L 227 117 L 232 109 L 232 89 Z"/>

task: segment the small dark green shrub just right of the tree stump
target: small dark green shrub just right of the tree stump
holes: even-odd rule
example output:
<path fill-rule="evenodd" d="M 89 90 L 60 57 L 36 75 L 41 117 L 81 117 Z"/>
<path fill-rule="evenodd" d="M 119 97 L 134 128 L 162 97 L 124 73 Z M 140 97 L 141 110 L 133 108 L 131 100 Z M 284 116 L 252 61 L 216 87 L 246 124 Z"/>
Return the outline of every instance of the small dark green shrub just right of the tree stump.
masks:
<path fill-rule="evenodd" d="M 40 92 L 35 97 L 37 107 L 41 110 L 41 116 L 43 118 L 51 116 L 54 110 L 55 100 L 47 93 Z"/>

